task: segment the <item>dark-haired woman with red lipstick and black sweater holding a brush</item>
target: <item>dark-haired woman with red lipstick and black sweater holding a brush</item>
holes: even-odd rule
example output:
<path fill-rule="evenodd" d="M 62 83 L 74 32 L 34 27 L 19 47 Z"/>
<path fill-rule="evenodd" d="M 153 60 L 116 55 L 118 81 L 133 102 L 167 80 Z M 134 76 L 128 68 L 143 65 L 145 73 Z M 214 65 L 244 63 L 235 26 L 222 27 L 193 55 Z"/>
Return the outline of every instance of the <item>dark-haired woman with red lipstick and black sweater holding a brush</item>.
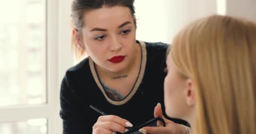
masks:
<path fill-rule="evenodd" d="M 165 119 L 157 105 L 163 106 L 168 45 L 136 40 L 133 3 L 73 0 L 72 46 L 77 57 L 85 52 L 88 57 L 67 70 L 61 83 L 63 134 L 125 132 L 154 117 L 163 118 L 166 127 L 151 127 L 149 133 L 186 134 L 181 125 L 186 122 Z"/>

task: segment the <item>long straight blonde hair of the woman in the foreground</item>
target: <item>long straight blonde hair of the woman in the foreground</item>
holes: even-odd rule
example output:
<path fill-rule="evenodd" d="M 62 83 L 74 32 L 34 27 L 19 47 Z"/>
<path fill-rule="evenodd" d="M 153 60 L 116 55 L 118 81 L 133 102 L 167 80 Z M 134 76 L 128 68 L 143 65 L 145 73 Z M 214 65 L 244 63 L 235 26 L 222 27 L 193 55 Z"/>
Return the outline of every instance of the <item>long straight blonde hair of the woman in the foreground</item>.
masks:
<path fill-rule="evenodd" d="M 255 23 L 202 18 L 177 34 L 170 55 L 195 82 L 195 134 L 256 134 Z"/>

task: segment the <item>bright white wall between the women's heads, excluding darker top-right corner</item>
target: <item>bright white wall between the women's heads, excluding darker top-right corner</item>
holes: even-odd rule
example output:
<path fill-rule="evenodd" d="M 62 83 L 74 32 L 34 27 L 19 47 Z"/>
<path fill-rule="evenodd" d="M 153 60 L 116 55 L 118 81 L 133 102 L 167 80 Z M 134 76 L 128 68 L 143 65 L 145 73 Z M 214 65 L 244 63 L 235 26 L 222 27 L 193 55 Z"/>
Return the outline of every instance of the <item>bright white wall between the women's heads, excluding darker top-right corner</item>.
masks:
<path fill-rule="evenodd" d="M 190 21 L 217 12 L 216 0 L 135 0 L 135 8 L 137 39 L 168 44 Z"/>

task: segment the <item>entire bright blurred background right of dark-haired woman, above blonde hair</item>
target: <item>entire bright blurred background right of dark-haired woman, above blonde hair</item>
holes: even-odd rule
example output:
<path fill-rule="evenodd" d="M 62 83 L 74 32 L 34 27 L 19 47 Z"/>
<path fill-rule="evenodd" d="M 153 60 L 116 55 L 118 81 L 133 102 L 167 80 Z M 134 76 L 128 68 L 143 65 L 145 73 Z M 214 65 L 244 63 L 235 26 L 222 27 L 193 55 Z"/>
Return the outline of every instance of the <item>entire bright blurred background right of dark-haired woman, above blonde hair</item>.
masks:
<path fill-rule="evenodd" d="M 211 14 L 256 22 L 256 0 L 135 0 L 137 39 L 170 44 L 187 23 Z"/>

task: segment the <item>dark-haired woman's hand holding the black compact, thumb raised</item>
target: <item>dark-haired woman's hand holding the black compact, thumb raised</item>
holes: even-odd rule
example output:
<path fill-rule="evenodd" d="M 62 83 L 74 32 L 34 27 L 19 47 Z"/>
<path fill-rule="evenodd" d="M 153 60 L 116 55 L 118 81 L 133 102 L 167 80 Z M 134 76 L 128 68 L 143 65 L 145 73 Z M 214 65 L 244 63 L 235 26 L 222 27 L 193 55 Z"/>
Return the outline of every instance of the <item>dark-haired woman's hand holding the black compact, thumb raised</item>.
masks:
<path fill-rule="evenodd" d="M 157 127 L 146 126 L 140 129 L 143 134 L 186 134 L 186 128 L 184 126 L 176 124 L 163 116 L 160 103 L 155 106 L 154 116 L 162 118 L 165 121 L 165 127 L 161 121 L 157 121 Z"/>

